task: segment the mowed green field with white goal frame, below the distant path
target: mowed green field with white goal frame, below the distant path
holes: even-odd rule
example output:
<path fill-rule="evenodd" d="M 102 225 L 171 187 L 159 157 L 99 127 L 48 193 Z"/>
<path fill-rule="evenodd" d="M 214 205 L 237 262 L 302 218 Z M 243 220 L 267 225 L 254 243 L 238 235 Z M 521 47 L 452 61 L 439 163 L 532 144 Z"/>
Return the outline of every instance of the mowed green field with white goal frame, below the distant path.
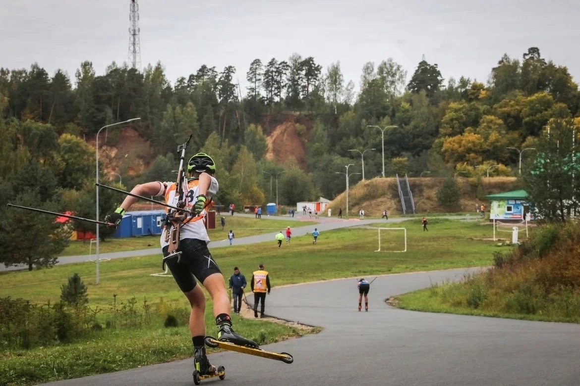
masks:
<path fill-rule="evenodd" d="M 377 226 L 385 226 L 378 223 Z M 212 251 L 226 277 L 234 266 L 251 275 L 258 264 L 266 264 L 273 286 L 328 280 L 358 275 L 403 273 L 410 271 L 487 266 L 492 252 L 503 251 L 490 238 L 492 226 L 480 222 L 433 219 L 429 232 L 420 223 L 403 222 L 393 227 L 407 227 L 408 251 L 374 252 L 378 248 L 378 231 L 354 227 L 322 232 L 318 244 L 311 236 L 292 237 L 291 244 L 276 241 L 252 245 L 233 245 Z M 402 249 L 403 233 L 382 234 L 382 249 L 387 242 L 392 250 Z M 353 264 L 356 261 L 356 264 Z M 63 264 L 52 269 L 16 271 L 0 275 L 0 297 L 23 297 L 34 302 L 59 300 L 60 285 L 78 273 L 88 286 L 90 304 L 102 306 L 119 296 L 147 296 L 148 299 L 181 299 L 171 277 L 152 277 L 161 271 L 160 255 L 114 259 L 100 264 L 100 284 L 95 285 L 95 264 Z M 248 277 L 249 279 L 249 277 Z"/>

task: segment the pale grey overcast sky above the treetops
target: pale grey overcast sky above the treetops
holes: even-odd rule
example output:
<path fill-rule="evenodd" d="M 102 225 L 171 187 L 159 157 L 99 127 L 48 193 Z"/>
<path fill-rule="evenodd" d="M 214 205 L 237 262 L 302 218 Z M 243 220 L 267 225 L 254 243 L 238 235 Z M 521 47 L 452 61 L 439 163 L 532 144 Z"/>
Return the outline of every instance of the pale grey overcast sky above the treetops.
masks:
<path fill-rule="evenodd" d="M 392 57 L 407 80 L 425 54 L 447 80 L 486 82 L 504 53 L 528 47 L 580 82 L 577 0 L 138 0 L 142 65 L 161 61 L 173 84 L 202 65 L 237 68 L 255 58 L 340 61 L 345 81 Z M 74 82 L 81 61 L 97 75 L 128 61 L 130 0 L 0 0 L 0 67 L 57 68 Z M 345 82 L 345 83 L 346 83 Z M 74 84 L 74 83 L 73 83 Z"/>

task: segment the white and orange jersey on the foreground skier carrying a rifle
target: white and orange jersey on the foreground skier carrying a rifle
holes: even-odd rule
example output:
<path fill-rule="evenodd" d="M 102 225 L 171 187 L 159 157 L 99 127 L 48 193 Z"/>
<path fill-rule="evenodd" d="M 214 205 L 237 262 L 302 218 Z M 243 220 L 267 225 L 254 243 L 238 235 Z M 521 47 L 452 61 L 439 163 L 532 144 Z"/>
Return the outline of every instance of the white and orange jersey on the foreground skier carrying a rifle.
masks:
<path fill-rule="evenodd" d="M 176 197 L 176 183 L 175 182 L 161 182 L 165 188 L 162 188 L 162 192 L 160 192 L 160 196 L 165 196 L 165 202 L 169 205 L 175 206 L 177 201 L 179 201 L 179 197 Z M 191 179 L 187 182 L 187 186 L 184 186 L 185 192 L 185 207 L 191 208 L 195 204 L 195 198 L 197 198 L 199 194 L 198 184 L 200 181 L 198 179 Z M 211 197 L 214 197 L 218 193 L 219 185 L 218 180 L 212 177 L 212 182 L 209 185 L 208 193 L 208 200 Z M 208 201 L 209 204 L 209 201 Z M 206 209 L 209 208 L 209 205 Z M 205 229 L 205 215 L 206 209 L 201 212 L 199 216 L 190 216 L 183 222 L 182 229 L 180 231 L 179 240 L 183 240 L 184 238 L 196 238 L 197 240 L 204 240 L 209 242 L 208 231 Z M 169 212 L 169 208 L 165 208 L 165 212 Z M 168 242 L 165 242 L 165 232 L 164 230 L 161 233 L 161 248 L 168 245 Z"/>

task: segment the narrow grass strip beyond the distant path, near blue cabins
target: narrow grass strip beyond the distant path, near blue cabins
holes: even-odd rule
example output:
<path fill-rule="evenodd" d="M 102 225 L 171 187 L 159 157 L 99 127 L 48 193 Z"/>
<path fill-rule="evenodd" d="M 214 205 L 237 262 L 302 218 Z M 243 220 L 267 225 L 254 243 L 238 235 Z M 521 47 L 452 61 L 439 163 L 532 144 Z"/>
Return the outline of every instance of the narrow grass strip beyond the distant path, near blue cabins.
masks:
<path fill-rule="evenodd" d="M 254 236 L 256 234 L 270 233 L 285 229 L 287 226 L 305 226 L 315 225 L 317 222 L 306 220 L 286 220 L 266 219 L 257 220 L 251 217 L 242 216 L 225 216 L 226 227 L 222 230 L 219 224 L 219 218 L 216 218 L 216 229 L 208 230 L 209 238 L 211 240 L 224 240 L 230 229 L 234 231 L 235 237 Z M 99 243 L 99 252 L 121 252 L 121 251 L 137 251 L 139 249 L 157 248 L 159 247 L 160 236 L 142 236 L 142 237 L 126 237 L 126 238 L 107 238 L 106 241 Z M 92 247 L 89 241 L 71 241 L 70 245 L 64 249 L 59 256 L 77 256 L 89 255 L 95 253 L 95 244 Z"/>

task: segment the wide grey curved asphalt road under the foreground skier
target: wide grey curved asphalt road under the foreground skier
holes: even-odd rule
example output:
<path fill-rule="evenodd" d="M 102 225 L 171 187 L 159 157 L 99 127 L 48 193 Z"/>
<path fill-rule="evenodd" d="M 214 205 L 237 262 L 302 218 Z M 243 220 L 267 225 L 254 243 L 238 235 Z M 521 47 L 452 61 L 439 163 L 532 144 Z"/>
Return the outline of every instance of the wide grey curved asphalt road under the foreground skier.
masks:
<path fill-rule="evenodd" d="M 357 311 L 354 279 L 275 288 L 266 298 L 268 314 L 324 331 L 263 347 L 289 352 L 291 365 L 211 354 L 214 365 L 226 367 L 226 380 L 202 385 L 580 385 L 580 325 L 419 313 L 383 301 L 469 271 L 379 277 L 368 313 Z M 192 371 L 187 359 L 50 385 L 186 386 L 193 385 Z"/>

